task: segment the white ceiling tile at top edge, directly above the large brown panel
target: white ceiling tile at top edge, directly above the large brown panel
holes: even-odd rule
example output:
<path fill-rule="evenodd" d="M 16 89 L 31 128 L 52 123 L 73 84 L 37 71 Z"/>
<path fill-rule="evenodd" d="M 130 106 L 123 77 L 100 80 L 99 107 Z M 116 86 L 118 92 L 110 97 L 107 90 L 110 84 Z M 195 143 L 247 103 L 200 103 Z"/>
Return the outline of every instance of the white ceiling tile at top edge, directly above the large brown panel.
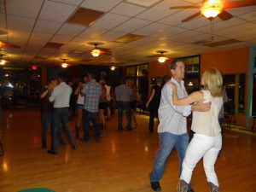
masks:
<path fill-rule="evenodd" d="M 84 0 L 81 7 L 100 11 L 109 11 L 122 1 L 123 0 L 104 0 L 104 3 L 102 3 L 102 0 Z"/>

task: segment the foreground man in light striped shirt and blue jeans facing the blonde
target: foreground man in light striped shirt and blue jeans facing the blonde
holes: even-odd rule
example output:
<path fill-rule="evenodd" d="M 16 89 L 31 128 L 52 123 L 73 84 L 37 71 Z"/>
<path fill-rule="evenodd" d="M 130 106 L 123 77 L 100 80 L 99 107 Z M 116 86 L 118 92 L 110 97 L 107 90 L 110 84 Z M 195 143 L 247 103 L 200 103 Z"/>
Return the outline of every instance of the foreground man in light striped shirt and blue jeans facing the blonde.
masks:
<path fill-rule="evenodd" d="M 175 59 L 170 64 L 170 80 L 177 85 L 177 95 L 179 98 L 188 96 L 184 87 L 185 64 L 183 60 Z M 203 101 L 202 101 L 203 102 Z M 179 175 L 182 172 L 183 158 L 189 145 L 189 133 L 187 131 L 187 119 L 191 111 L 205 112 L 211 108 L 211 103 L 199 102 L 196 105 L 176 106 L 172 103 L 172 86 L 166 82 L 161 91 L 160 107 L 158 109 L 160 124 L 158 125 L 159 149 L 155 155 L 152 172 L 149 173 L 151 188 L 160 191 L 159 180 L 163 175 L 166 160 L 172 152 L 172 148 L 177 149 L 179 161 Z M 188 192 L 193 192 L 189 186 Z"/>

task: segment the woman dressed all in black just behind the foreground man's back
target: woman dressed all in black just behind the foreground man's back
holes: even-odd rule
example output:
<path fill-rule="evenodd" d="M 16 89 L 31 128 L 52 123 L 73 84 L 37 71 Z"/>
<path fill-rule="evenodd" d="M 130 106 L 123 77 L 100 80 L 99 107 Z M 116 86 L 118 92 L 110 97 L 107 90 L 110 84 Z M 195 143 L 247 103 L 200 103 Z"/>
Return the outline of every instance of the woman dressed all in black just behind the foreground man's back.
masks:
<path fill-rule="evenodd" d="M 151 96 L 146 104 L 146 107 L 149 108 L 149 125 L 148 130 L 150 132 L 154 131 L 154 117 L 158 118 L 158 108 L 160 105 L 160 98 L 161 98 L 161 90 L 162 90 L 162 79 L 156 78 L 155 85 L 152 87 Z"/>

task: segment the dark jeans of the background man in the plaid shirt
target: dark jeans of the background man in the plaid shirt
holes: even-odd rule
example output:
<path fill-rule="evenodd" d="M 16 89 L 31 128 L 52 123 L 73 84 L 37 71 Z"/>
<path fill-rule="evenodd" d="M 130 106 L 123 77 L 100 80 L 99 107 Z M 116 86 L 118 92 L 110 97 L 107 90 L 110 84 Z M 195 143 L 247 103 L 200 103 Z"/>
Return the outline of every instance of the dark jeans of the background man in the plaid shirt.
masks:
<path fill-rule="evenodd" d="M 89 134 L 90 121 L 94 127 L 96 137 L 100 137 L 102 135 L 100 125 L 98 125 L 96 122 L 96 116 L 97 116 L 97 112 L 90 112 L 85 109 L 83 110 L 83 131 L 84 131 L 83 140 L 84 141 L 88 141 L 90 139 L 90 134 Z"/>

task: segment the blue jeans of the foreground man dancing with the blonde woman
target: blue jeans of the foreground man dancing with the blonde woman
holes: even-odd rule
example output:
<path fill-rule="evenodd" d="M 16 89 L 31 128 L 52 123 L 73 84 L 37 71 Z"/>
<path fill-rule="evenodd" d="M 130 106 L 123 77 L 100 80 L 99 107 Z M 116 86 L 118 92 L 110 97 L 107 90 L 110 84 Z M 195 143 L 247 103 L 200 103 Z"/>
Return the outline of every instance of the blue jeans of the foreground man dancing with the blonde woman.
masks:
<path fill-rule="evenodd" d="M 158 182 L 163 176 L 166 160 L 172 152 L 172 148 L 177 149 L 179 176 L 182 172 L 182 163 L 189 145 L 189 134 L 174 135 L 169 132 L 159 133 L 159 149 L 156 152 L 154 166 L 149 174 L 150 182 Z"/>

